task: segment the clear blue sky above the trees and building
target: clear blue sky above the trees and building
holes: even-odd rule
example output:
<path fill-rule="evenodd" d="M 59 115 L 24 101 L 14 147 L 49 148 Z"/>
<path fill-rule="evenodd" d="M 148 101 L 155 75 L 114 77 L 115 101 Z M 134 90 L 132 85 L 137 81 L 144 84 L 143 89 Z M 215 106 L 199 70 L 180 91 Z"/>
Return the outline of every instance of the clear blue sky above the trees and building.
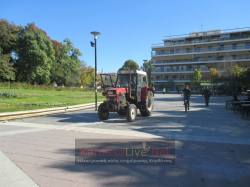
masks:
<path fill-rule="evenodd" d="M 0 0 L 0 18 L 69 38 L 92 66 L 90 32 L 100 31 L 98 70 L 105 72 L 127 59 L 142 64 L 164 36 L 250 26 L 249 11 L 249 0 Z"/>

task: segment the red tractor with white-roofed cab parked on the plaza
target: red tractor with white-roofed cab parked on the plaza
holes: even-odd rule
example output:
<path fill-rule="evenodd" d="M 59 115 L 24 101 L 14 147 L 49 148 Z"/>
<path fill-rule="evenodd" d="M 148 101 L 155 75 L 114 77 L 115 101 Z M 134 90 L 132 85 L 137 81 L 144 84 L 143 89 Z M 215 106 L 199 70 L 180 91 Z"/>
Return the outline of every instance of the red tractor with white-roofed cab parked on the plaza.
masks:
<path fill-rule="evenodd" d="M 137 109 L 142 116 L 150 116 L 153 109 L 153 90 L 149 88 L 147 74 L 140 70 L 119 70 L 116 80 L 111 74 L 101 74 L 106 101 L 98 107 L 100 120 L 107 120 L 110 112 L 127 116 L 134 121 Z"/>

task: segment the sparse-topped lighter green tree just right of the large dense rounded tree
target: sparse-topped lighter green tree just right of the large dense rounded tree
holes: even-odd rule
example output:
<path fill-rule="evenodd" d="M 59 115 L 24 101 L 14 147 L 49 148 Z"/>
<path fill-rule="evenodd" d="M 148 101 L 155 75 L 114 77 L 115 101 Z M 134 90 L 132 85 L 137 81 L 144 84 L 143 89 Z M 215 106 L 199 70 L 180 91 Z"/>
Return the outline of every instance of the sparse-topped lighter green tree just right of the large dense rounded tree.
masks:
<path fill-rule="evenodd" d="M 51 70 L 51 79 L 58 84 L 76 85 L 80 82 L 79 59 L 81 53 L 69 39 L 62 43 L 53 41 L 55 62 Z"/>

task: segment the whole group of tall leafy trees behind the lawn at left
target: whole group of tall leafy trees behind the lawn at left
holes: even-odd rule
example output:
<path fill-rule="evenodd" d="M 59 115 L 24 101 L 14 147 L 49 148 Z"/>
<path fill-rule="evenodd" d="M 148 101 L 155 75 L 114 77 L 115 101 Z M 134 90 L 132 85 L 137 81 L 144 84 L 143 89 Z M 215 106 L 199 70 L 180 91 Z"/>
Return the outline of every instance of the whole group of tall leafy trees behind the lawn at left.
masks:
<path fill-rule="evenodd" d="M 0 20 L 0 81 L 77 85 L 80 55 L 70 40 L 52 40 L 35 24 L 22 27 Z"/>

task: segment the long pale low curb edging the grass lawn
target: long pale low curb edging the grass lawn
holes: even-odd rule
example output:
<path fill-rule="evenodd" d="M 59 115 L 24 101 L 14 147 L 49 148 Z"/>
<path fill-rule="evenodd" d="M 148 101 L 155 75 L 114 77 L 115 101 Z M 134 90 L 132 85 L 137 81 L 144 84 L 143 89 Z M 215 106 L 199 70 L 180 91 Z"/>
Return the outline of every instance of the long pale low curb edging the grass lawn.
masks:
<path fill-rule="evenodd" d="M 100 103 L 101 102 L 98 102 L 98 104 Z M 35 116 L 44 116 L 44 115 L 49 115 L 49 114 L 57 114 L 57 113 L 65 113 L 65 112 L 73 112 L 73 111 L 83 110 L 83 109 L 88 109 L 88 108 L 93 108 L 93 107 L 94 107 L 94 103 L 87 103 L 87 104 L 72 105 L 72 106 L 65 106 L 65 107 L 26 110 L 26 111 L 18 111 L 18 112 L 4 112 L 4 113 L 0 113 L 0 121 L 35 117 Z"/>

